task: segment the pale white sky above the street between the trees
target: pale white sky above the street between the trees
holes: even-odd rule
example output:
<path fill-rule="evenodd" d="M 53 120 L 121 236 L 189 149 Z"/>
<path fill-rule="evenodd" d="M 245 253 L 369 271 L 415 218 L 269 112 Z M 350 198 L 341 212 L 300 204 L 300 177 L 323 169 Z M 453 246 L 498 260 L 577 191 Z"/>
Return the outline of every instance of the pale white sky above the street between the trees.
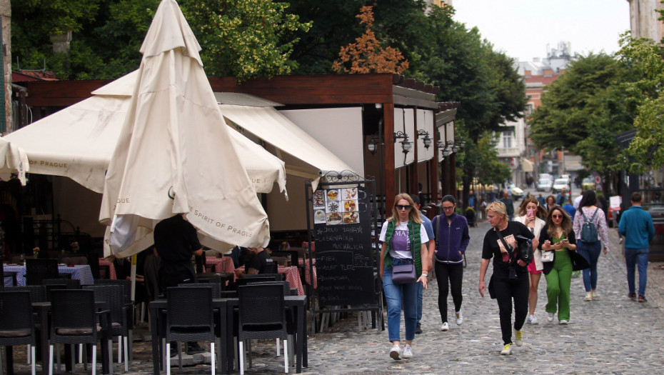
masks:
<path fill-rule="evenodd" d="M 627 0 L 453 0 L 454 19 L 477 26 L 494 50 L 518 61 L 547 55 L 546 45 L 571 43 L 572 54 L 618 51 L 630 29 Z"/>

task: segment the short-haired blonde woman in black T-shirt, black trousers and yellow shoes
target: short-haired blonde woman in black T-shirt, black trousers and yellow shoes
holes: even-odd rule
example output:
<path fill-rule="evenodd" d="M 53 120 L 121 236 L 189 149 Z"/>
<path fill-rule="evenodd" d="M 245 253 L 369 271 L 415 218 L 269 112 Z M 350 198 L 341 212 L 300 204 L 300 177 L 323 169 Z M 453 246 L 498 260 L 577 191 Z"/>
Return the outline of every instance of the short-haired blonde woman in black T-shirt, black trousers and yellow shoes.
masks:
<path fill-rule="evenodd" d="M 518 256 L 516 236 L 532 239 L 533 249 L 538 246 L 538 239 L 525 225 L 517 221 L 508 221 L 507 209 L 502 202 L 489 204 L 486 216 L 493 228 L 484 236 L 478 289 L 480 295 L 484 296 L 486 291 L 484 276 L 493 257 L 493 275 L 489 283 L 489 293 L 491 298 L 495 297 L 498 300 L 500 311 L 500 331 L 503 334 L 504 345 L 500 354 L 508 356 L 512 354 L 512 300 L 514 300 L 516 346 L 523 344 L 521 328 L 528 314 L 528 269 Z M 503 239 L 507 246 L 503 244 Z"/>

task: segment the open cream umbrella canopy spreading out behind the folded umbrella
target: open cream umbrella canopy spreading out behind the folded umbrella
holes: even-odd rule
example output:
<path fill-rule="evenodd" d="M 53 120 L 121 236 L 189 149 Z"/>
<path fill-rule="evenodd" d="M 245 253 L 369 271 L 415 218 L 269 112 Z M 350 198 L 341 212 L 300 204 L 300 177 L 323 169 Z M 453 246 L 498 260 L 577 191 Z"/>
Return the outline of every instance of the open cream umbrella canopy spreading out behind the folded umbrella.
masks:
<path fill-rule="evenodd" d="M 104 176 L 118 143 L 138 72 L 93 91 L 94 96 L 89 99 L 4 136 L 6 142 L 0 143 L 0 157 L 4 156 L 7 162 L 0 165 L 0 177 L 6 180 L 19 173 L 20 163 L 12 160 L 17 160 L 16 152 L 20 150 L 29 160 L 30 173 L 66 176 L 92 191 L 103 192 Z M 230 134 L 238 154 L 244 156 L 241 163 L 256 191 L 269 193 L 276 182 L 285 193 L 283 161 L 238 132 Z"/>

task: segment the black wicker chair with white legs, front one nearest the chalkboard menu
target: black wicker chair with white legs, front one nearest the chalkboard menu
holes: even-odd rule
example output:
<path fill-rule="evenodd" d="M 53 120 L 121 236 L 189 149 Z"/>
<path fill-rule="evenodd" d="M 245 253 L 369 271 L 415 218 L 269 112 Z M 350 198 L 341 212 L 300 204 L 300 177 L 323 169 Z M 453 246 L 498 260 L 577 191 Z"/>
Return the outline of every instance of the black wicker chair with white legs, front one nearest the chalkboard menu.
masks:
<path fill-rule="evenodd" d="M 244 340 L 283 339 L 284 352 L 288 347 L 283 286 L 280 284 L 238 286 L 238 341 L 240 375 L 244 375 Z M 288 373 L 288 356 L 283 356 L 283 369 Z"/>

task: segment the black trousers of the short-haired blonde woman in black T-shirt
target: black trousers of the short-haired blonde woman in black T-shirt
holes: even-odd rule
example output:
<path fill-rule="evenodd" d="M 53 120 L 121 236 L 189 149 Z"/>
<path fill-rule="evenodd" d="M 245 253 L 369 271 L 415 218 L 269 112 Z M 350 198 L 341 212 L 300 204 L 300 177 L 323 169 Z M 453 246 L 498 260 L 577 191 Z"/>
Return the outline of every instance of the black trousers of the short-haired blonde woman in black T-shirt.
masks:
<path fill-rule="evenodd" d="M 530 281 L 528 273 L 518 274 L 516 279 L 510 280 L 507 275 L 493 276 L 493 285 L 500 311 L 500 331 L 503 334 L 503 344 L 512 342 L 512 299 L 514 299 L 514 329 L 519 331 L 528 315 L 528 291 Z"/>

